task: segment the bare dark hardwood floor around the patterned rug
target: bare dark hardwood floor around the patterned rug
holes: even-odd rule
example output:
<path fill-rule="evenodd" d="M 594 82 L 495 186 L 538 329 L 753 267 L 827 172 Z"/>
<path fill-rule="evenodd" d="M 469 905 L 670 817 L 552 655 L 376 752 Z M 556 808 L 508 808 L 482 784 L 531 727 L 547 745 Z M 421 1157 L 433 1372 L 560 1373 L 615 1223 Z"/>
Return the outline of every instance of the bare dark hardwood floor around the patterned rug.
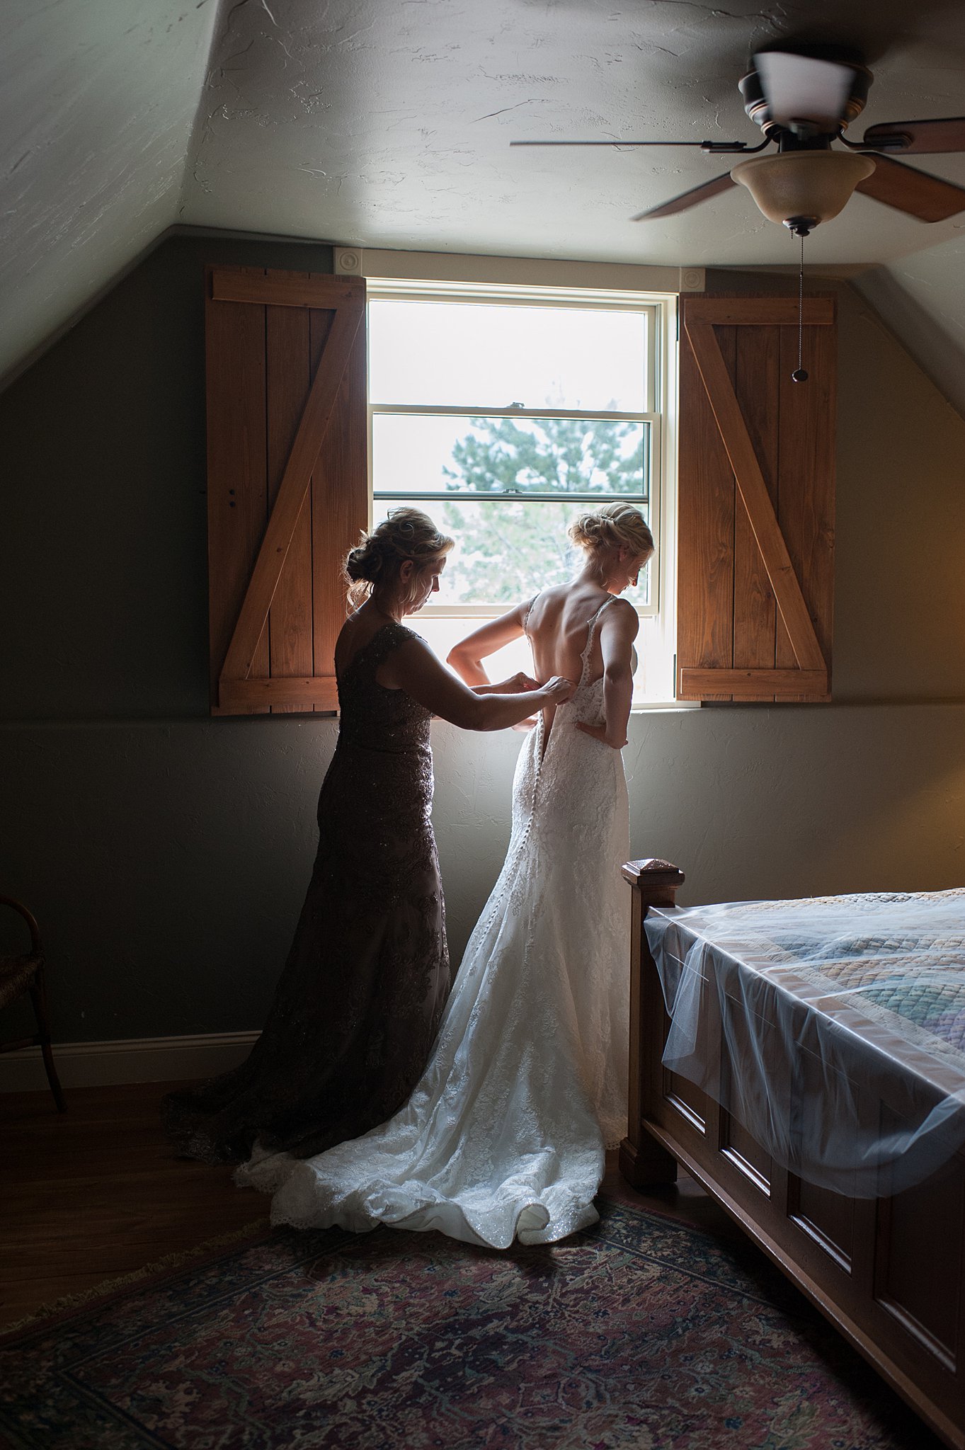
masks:
<path fill-rule="evenodd" d="M 268 1199 L 235 1188 L 230 1167 L 174 1157 L 158 1121 L 172 1086 L 184 1085 L 72 1089 L 65 1114 L 45 1092 L 0 1095 L 0 1328 L 165 1254 L 267 1224 Z M 739 1234 L 693 1179 L 635 1195 L 610 1159 L 604 1186 Z"/>

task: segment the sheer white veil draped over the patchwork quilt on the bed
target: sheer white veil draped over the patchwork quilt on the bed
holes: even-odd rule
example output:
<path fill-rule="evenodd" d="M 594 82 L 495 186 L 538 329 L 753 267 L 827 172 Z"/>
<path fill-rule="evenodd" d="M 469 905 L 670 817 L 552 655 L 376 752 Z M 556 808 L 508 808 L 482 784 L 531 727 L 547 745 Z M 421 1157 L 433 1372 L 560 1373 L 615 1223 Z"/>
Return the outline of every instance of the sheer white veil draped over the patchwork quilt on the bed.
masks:
<path fill-rule="evenodd" d="M 965 1137 L 965 889 L 656 909 L 645 928 L 665 1066 L 801 1176 L 871 1196 L 882 1169 L 908 1186 Z"/>

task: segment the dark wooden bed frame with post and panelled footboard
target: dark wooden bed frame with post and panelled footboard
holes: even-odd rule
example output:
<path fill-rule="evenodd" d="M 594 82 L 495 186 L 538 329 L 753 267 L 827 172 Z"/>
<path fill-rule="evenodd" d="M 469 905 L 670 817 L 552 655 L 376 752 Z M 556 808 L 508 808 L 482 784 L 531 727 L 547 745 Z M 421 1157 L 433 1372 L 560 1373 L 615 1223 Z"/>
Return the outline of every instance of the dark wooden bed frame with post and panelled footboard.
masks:
<path fill-rule="evenodd" d="M 672 1183 L 682 1164 L 935 1433 L 965 1450 L 965 1148 L 917 1188 L 878 1199 L 814 1188 L 772 1163 L 661 1061 L 669 1018 L 643 919 L 675 905 L 684 873 L 646 860 L 623 874 L 633 887 L 623 1177 Z"/>

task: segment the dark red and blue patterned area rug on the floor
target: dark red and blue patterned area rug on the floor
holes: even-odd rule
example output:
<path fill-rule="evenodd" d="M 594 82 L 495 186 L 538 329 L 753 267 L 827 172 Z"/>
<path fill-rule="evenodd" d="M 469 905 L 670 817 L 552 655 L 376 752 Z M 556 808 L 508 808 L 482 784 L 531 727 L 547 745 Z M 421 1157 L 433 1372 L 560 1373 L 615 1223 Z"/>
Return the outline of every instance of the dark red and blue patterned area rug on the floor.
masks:
<path fill-rule="evenodd" d="M 22 1450 L 924 1450 L 751 1246 L 601 1205 L 552 1247 L 264 1234 L 9 1337 Z"/>

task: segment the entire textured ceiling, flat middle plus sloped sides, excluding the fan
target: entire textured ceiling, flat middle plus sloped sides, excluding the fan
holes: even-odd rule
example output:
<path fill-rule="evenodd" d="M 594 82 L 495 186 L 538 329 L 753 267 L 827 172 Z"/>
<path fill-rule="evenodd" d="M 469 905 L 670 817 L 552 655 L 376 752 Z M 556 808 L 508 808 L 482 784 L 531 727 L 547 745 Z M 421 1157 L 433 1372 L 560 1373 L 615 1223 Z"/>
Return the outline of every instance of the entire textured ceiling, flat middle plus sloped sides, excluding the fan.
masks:
<path fill-rule="evenodd" d="M 781 36 L 864 51 L 875 81 L 858 135 L 965 113 L 958 0 L 13 0 L 0 19 L 0 371 L 178 222 L 420 251 L 787 264 L 794 242 L 739 187 L 629 220 L 726 160 L 509 149 L 753 144 L 736 83 Z M 965 184 L 965 155 L 916 160 Z M 916 351 L 945 349 L 965 374 L 965 213 L 926 226 L 855 196 L 806 255 L 861 274 Z"/>

